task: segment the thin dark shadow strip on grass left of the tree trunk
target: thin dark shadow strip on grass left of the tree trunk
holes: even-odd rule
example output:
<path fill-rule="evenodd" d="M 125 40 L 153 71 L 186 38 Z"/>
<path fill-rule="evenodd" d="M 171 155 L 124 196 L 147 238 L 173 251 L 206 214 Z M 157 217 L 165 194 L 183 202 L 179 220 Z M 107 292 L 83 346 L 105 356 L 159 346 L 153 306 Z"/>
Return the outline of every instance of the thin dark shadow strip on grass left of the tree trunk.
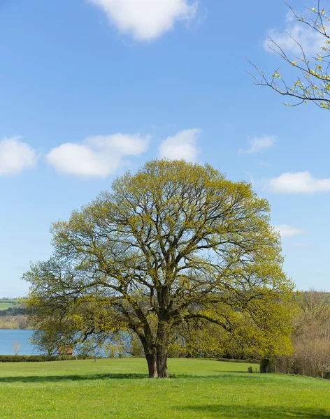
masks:
<path fill-rule="evenodd" d="M 127 380 L 147 378 L 146 374 L 86 374 L 58 376 L 8 376 L 0 377 L 0 383 L 57 383 L 58 381 Z"/>

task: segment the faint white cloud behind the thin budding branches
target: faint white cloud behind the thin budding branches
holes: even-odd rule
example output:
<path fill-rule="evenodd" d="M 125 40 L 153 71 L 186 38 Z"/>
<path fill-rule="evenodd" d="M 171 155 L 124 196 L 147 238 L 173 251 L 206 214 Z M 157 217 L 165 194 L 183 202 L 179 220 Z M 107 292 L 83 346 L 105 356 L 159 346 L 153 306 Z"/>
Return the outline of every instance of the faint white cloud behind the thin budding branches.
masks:
<path fill-rule="evenodd" d="M 268 52 L 271 52 L 268 48 L 268 45 L 272 46 L 269 38 L 273 39 L 283 51 L 292 52 L 299 56 L 301 55 L 301 48 L 297 42 L 303 47 L 306 54 L 313 55 L 316 55 L 317 50 L 320 50 L 320 47 L 324 45 L 324 36 L 308 27 L 307 24 L 296 22 L 292 13 L 287 14 L 287 26 L 284 31 L 281 32 L 278 29 L 268 31 L 268 38 L 264 41 L 264 47 Z"/>

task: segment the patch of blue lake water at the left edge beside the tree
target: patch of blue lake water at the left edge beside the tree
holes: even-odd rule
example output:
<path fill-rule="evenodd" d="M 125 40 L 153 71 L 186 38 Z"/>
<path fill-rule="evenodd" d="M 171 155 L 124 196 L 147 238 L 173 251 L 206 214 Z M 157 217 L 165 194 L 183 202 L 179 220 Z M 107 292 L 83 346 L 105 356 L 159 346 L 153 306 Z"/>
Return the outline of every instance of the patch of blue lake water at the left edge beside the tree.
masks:
<path fill-rule="evenodd" d="M 13 342 L 19 341 L 21 349 L 18 355 L 34 355 L 34 346 L 29 343 L 33 330 L 5 330 L 0 329 L 0 355 L 15 355 L 11 347 Z"/>

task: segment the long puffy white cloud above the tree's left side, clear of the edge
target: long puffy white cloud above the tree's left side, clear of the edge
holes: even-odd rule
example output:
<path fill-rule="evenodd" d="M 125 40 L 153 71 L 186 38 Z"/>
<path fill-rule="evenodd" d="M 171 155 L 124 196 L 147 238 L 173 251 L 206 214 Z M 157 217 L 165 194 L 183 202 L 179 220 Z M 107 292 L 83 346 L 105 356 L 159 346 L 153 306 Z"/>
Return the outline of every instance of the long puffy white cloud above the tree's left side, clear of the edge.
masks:
<path fill-rule="evenodd" d="M 122 164 L 124 156 L 138 156 L 148 149 L 149 136 L 140 134 L 96 135 L 82 144 L 67 142 L 45 156 L 59 173 L 81 177 L 107 177 Z"/>

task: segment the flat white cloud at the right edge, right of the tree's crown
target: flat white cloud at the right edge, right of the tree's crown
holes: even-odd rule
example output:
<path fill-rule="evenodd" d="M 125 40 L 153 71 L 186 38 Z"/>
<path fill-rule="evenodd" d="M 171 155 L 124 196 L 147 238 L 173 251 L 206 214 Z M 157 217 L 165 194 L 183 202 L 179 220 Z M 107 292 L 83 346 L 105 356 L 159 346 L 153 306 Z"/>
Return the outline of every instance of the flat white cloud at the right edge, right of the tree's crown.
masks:
<path fill-rule="evenodd" d="M 316 193 L 329 192 L 330 179 L 316 179 L 310 172 L 283 173 L 269 179 L 266 189 L 278 193 Z"/>

